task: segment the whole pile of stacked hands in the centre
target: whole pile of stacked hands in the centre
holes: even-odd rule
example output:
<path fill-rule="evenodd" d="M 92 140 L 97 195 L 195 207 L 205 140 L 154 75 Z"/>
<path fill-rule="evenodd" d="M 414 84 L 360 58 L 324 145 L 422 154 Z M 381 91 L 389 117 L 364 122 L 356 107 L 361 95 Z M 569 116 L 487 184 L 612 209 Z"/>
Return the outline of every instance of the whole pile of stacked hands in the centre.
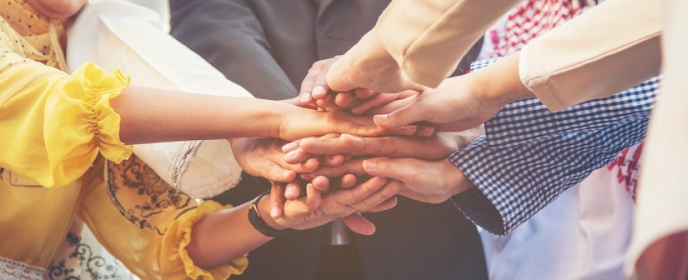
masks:
<path fill-rule="evenodd" d="M 446 157 L 479 137 L 500 106 L 462 116 L 449 104 L 456 96 L 444 98 L 456 95 L 452 80 L 461 76 L 426 89 L 400 71 L 366 80 L 340 62 L 348 73 L 339 73 L 338 59 L 313 64 L 299 96 L 281 102 L 275 137 L 230 141 L 247 173 L 272 182 L 274 222 L 298 230 L 342 218 L 353 232 L 372 235 L 375 225 L 361 214 L 392 209 L 397 195 L 441 203 L 472 187 Z M 471 104 L 458 101 L 464 110 Z"/>

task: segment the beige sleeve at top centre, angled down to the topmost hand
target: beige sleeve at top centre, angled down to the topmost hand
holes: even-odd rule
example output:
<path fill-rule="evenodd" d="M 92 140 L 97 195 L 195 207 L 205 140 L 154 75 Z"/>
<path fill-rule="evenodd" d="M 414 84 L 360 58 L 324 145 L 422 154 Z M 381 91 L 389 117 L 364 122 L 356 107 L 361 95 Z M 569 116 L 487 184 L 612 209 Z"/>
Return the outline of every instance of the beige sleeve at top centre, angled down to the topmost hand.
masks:
<path fill-rule="evenodd" d="M 411 80 L 436 87 L 521 0 L 394 0 L 373 31 Z"/>

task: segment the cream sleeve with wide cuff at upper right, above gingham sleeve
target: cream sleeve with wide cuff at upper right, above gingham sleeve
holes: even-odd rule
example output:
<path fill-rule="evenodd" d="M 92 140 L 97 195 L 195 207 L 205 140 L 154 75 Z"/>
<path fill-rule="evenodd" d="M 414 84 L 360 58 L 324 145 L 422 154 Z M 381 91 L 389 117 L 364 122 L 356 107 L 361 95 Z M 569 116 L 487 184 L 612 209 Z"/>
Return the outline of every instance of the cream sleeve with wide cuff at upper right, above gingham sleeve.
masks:
<path fill-rule="evenodd" d="M 609 0 L 521 51 L 524 85 L 551 111 L 627 90 L 659 73 L 657 0 Z"/>

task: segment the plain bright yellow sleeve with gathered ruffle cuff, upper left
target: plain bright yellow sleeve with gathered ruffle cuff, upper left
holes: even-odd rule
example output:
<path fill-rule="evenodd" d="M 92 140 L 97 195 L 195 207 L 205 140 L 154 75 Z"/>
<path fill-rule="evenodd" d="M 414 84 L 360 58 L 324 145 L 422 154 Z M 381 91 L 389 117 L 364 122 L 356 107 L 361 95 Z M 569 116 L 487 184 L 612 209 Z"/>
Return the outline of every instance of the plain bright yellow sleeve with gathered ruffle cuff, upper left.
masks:
<path fill-rule="evenodd" d="M 0 45 L 0 167 L 51 188 L 78 179 L 99 153 L 128 158 L 110 107 L 128 83 L 91 63 L 68 76 Z"/>

